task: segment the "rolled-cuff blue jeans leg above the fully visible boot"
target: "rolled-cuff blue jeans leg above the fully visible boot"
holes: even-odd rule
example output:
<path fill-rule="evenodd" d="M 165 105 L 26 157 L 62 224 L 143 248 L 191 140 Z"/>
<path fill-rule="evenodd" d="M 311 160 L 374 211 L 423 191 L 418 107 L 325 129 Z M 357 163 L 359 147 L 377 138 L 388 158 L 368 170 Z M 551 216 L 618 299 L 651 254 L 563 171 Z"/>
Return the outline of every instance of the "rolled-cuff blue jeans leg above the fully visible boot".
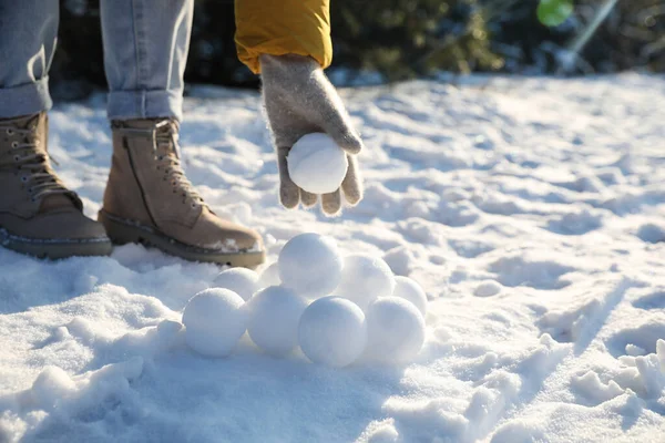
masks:
<path fill-rule="evenodd" d="M 102 0 L 109 119 L 182 120 L 194 0 Z"/>

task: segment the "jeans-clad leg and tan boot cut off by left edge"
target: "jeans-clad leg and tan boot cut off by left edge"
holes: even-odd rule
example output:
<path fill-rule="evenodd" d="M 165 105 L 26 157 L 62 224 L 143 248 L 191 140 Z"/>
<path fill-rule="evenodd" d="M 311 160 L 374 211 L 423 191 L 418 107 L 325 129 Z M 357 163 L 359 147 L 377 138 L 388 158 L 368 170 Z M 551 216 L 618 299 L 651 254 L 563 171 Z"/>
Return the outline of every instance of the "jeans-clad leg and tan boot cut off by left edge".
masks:
<path fill-rule="evenodd" d="M 51 167 L 49 68 L 58 0 L 0 0 L 0 246 L 38 257 L 108 255 L 104 227 Z"/>

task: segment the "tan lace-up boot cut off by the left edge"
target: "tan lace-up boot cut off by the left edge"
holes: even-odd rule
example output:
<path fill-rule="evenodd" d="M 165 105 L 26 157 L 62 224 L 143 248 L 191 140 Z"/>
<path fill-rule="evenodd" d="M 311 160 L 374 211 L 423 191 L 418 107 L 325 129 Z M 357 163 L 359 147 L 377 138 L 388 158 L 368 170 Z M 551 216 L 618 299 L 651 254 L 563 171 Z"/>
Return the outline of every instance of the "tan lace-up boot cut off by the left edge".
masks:
<path fill-rule="evenodd" d="M 45 113 L 0 120 L 0 245 L 38 257 L 111 254 L 104 227 L 51 168 Z"/>

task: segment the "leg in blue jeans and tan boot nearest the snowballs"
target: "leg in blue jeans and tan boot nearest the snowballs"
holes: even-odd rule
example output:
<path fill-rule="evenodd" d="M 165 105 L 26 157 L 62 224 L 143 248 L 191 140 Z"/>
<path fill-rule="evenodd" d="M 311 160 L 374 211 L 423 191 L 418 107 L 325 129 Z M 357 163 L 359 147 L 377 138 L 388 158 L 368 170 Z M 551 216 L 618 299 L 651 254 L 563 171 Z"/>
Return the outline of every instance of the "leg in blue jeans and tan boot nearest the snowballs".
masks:
<path fill-rule="evenodd" d="M 102 0 L 113 159 L 100 210 L 115 243 L 190 260 L 256 267 L 260 236 L 217 217 L 181 166 L 177 144 L 193 0 Z"/>

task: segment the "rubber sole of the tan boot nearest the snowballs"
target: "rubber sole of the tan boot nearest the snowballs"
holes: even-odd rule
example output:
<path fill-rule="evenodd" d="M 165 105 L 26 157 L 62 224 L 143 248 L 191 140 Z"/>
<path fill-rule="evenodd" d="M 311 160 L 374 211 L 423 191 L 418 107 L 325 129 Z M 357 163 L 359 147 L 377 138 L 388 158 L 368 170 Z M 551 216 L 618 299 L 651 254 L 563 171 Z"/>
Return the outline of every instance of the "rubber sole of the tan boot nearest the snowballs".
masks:
<path fill-rule="evenodd" d="M 214 262 L 231 267 L 255 269 L 266 259 L 265 251 L 229 253 L 221 249 L 200 248 L 177 241 L 157 229 L 111 215 L 103 209 L 98 220 L 106 228 L 111 240 L 117 245 L 137 243 L 191 261 Z"/>

